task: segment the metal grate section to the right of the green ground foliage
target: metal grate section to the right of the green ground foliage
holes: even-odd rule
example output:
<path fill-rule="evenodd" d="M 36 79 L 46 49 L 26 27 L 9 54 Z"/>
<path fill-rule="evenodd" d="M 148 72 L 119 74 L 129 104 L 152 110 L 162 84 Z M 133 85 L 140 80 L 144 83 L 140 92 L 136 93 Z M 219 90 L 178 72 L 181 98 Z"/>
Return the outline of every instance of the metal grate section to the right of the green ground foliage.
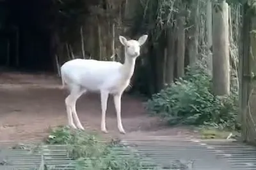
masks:
<path fill-rule="evenodd" d="M 156 137 L 154 137 L 156 138 Z M 234 140 L 168 139 L 126 140 L 159 166 L 173 160 L 195 160 L 193 169 L 256 169 L 256 148 Z"/>

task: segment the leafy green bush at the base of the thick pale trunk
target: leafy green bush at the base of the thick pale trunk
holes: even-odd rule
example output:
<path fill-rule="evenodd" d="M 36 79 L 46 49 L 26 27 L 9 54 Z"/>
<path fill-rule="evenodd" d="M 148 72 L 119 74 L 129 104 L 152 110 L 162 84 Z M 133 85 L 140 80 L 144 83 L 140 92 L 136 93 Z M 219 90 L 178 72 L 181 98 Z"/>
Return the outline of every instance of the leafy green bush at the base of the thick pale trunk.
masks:
<path fill-rule="evenodd" d="M 211 125 L 222 129 L 239 129 L 237 93 L 218 97 L 212 93 L 211 77 L 205 68 L 188 67 L 184 78 L 168 85 L 147 101 L 147 110 L 168 124 Z"/>

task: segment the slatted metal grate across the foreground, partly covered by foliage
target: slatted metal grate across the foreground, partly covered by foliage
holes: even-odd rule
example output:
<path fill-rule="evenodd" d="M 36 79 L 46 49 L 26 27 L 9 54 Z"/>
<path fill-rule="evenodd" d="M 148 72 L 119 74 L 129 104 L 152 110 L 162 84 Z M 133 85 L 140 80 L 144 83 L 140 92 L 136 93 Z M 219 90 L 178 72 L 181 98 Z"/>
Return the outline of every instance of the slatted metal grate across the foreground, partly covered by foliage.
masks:
<path fill-rule="evenodd" d="M 115 148 L 120 157 L 127 156 L 127 150 L 137 152 L 143 162 L 152 163 L 161 169 L 170 169 L 175 160 L 194 160 L 198 169 L 256 169 L 256 148 L 234 140 L 170 139 L 161 136 L 147 139 L 122 141 L 128 148 Z M 1 145 L 2 144 L 2 145 Z M 74 160 L 67 158 L 67 146 L 42 145 L 37 152 L 11 150 L 0 143 L 0 169 L 35 169 L 42 161 L 54 169 L 75 169 Z M 31 144 L 29 144 L 31 145 Z"/>

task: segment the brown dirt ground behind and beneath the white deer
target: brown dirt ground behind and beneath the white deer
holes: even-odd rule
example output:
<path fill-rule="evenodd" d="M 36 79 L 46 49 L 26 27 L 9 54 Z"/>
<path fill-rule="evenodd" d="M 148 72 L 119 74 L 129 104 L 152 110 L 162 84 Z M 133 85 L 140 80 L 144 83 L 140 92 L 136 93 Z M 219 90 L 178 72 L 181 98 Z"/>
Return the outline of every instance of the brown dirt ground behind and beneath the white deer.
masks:
<path fill-rule="evenodd" d="M 67 125 L 64 100 L 68 94 L 60 87 L 60 78 L 49 74 L 0 73 L 0 140 L 38 141 L 47 136 L 49 127 Z M 99 94 L 80 97 L 77 114 L 86 129 L 100 132 Z M 106 117 L 111 137 L 191 137 L 193 134 L 186 128 L 167 128 L 158 118 L 148 117 L 139 97 L 122 97 L 122 121 L 127 134 L 118 132 L 112 97 Z"/>

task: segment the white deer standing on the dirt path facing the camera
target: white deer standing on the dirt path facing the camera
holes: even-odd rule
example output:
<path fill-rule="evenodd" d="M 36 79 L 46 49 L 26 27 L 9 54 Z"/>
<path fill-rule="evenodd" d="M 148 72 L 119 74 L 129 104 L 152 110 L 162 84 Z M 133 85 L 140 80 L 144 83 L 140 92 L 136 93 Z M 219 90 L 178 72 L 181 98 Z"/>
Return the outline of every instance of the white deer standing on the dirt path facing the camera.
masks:
<path fill-rule="evenodd" d="M 69 60 L 61 66 L 61 78 L 63 87 L 65 84 L 70 94 L 65 99 L 68 125 L 74 129 L 84 129 L 77 117 L 76 101 L 87 91 L 100 92 L 101 102 L 101 131 L 107 133 L 106 109 L 108 96 L 114 97 L 118 129 L 125 134 L 121 120 L 121 97 L 130 83 L 137 57 L 140 55 L 140 46 L 145 43 L 148 36 L 141 36 L 138 41 L 127 40 L 119 36 L 122 45 L 125 46 L 125 62 L 102 61 L 92 59 Z M 73 122 L 73 117 L 76 125 Z"/>

